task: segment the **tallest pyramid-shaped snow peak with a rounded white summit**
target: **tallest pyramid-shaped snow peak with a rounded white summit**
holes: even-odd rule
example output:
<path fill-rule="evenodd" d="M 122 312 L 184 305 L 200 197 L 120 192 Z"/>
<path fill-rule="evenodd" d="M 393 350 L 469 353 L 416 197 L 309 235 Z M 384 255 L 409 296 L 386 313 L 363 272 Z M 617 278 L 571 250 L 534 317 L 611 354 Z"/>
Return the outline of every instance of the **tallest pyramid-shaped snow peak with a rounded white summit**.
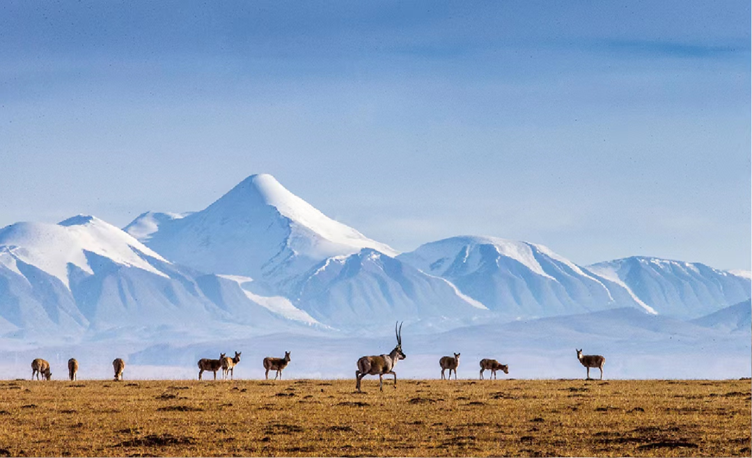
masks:
<path fill-rule="evenodd" d="M 165 220 L 145 243 L 168 259 L 282 287 L 330 256 L 396 252 L 326 217 L 271 175 L 247 177 L 202 211 Z"/>

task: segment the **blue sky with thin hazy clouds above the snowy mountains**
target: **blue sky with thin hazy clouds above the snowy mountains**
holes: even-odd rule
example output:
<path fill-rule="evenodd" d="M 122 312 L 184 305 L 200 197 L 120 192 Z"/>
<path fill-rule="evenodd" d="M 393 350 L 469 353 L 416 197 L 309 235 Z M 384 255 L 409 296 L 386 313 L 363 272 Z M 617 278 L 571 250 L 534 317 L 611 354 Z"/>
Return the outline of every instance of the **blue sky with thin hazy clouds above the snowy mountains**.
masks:
<path fill-rule="evenodd" d="M 750 268 L 749 2 L 0 2 L 0 226 L 244 177 L 452 235 Z"/>

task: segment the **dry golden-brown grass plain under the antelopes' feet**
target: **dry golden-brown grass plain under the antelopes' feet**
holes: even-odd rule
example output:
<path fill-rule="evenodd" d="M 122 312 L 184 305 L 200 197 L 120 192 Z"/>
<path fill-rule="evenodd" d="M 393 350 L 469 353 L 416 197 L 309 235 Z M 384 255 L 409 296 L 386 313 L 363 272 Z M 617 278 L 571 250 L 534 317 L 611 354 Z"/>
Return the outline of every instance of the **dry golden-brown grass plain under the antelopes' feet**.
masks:
<path fill-rule="evenodd" d="M 4 381 L 0 456 L 750 456 L 750 381 Z"/>

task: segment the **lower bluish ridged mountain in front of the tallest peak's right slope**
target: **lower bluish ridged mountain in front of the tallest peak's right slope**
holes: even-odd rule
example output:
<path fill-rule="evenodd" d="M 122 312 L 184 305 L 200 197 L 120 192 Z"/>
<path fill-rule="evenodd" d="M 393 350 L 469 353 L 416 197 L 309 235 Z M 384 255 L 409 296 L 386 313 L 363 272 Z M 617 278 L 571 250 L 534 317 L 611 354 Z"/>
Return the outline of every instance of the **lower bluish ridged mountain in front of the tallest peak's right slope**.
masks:
<path fill-rule="evenodd" d="M 371 248 L 326 259 L 301 277 L 296 304 L 340 329 L 388 329 L 396 320 L 448 329 L 487 317 L 487 308 L 443 278 Z"/>

